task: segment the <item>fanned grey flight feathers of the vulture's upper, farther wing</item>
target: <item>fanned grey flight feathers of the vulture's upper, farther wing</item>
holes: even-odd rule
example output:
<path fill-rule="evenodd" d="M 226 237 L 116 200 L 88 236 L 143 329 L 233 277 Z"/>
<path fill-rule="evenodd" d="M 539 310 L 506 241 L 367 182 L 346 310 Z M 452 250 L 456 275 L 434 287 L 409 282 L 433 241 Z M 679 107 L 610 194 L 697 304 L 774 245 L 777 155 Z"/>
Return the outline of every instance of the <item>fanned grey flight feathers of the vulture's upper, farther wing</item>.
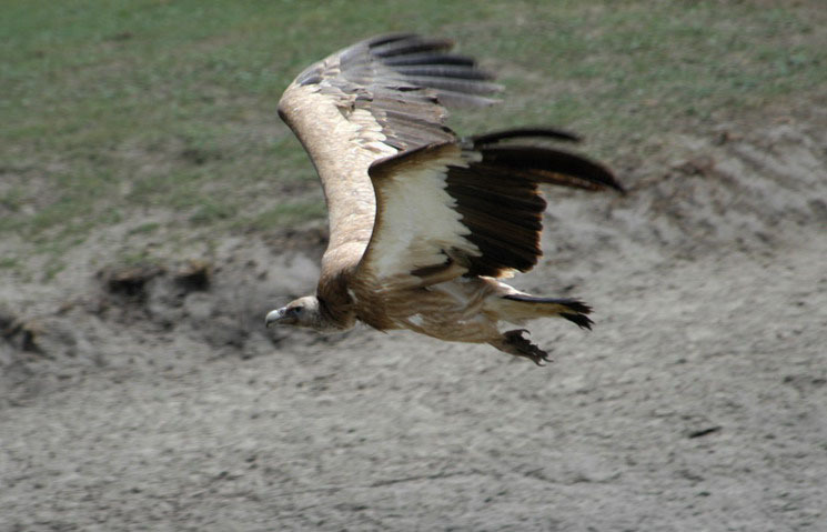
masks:
<path fill-rule="evenodd" d="M 375 37 L 312 64 L 294 86 L 317 89 L 345 113 L 370 114 L 382 142 L 399 151 L 452 140 L 443 106 L 491 104 L 501 87 L 451 48 L 448 39 L 412 33 Z"/>

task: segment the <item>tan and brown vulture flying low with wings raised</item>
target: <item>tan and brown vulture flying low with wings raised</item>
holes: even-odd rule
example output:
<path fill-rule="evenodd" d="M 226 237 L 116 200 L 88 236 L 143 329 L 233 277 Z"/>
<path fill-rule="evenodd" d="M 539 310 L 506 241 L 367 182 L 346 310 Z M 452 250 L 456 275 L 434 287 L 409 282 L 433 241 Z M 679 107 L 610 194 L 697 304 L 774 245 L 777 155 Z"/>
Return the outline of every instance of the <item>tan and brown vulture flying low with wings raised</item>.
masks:
<path fill-rule="evenodd" d="M 279 116 L 321 178 L 330 240 L 316 293 L 268 313 L 268 327 L 409 329 L 538 365 L 548 354 L 526 337 L 526 321 L 591 329 L 584 302 L 502 279 L 542 254 L 539 184 L 623 189 L 605 165 L 549 145 L 578 140 L 566 131 L 454 133 L 446 108 L 495 103 L 502 87 L 452 48 L 413 33 L 375 37 L 312 64 L 284 91 Z"/>

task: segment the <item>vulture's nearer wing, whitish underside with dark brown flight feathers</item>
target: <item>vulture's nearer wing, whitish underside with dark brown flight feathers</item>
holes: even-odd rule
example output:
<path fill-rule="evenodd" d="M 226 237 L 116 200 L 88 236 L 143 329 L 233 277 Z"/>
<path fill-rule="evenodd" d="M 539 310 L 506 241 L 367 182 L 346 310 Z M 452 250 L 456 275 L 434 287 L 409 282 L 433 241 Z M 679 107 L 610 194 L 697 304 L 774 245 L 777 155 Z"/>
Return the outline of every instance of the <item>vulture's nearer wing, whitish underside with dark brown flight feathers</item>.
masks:
<path fill-rule="evenodd" d="M 376 221 L 359 269 L 372 291 L 458 275 L 510 277 L 542 254 L 539 183 L 622 190 L 584 157 L 504 140 L 576 138 L 551 129 L 490 133 L 400 153 L 371 165 Z"/>

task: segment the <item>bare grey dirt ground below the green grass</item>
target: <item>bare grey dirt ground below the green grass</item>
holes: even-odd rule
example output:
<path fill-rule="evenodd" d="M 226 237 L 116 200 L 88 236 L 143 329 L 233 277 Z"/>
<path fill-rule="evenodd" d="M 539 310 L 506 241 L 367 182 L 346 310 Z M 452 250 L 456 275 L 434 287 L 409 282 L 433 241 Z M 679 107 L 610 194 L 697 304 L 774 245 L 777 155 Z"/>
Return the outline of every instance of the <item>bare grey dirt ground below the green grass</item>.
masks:
<path fill-rule="evenodd" d="M 612 161 L 624 198 L 549 191 L 518 284 L 597 323 L 535 323 L 547 368 L 269 335 L 317 228 L 91 267 L 113 227 L 0 288 L 0 530 L 825 531 L 825 123 L 667 134 Z"/>

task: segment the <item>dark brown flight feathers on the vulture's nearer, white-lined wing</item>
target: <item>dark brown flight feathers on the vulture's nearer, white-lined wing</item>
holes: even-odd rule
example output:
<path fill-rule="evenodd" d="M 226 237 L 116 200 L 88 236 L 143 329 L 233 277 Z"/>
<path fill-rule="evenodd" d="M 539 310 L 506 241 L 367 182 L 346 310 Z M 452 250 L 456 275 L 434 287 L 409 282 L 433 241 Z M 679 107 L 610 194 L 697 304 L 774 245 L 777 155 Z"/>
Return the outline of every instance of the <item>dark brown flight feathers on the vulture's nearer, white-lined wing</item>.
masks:
<path fill-rule="evenodd" d="M 477 155 L 466 168 L 448 168 L 445 190 L 471 232 L 466 239 L 480 250 L 478 257 L 468 259 L 466 274 L 503 277 L 534 268 L 542 255 L 539 237 L 546 209 L 539 184 L 623 191 L 601 163 L 525 143 L 537 138 L 576 140 L 571 133 L 539 128 L 488 133 L 470 139 L 466 152 Z M 501 144 L 505 139 L 517 143 Z"/>

